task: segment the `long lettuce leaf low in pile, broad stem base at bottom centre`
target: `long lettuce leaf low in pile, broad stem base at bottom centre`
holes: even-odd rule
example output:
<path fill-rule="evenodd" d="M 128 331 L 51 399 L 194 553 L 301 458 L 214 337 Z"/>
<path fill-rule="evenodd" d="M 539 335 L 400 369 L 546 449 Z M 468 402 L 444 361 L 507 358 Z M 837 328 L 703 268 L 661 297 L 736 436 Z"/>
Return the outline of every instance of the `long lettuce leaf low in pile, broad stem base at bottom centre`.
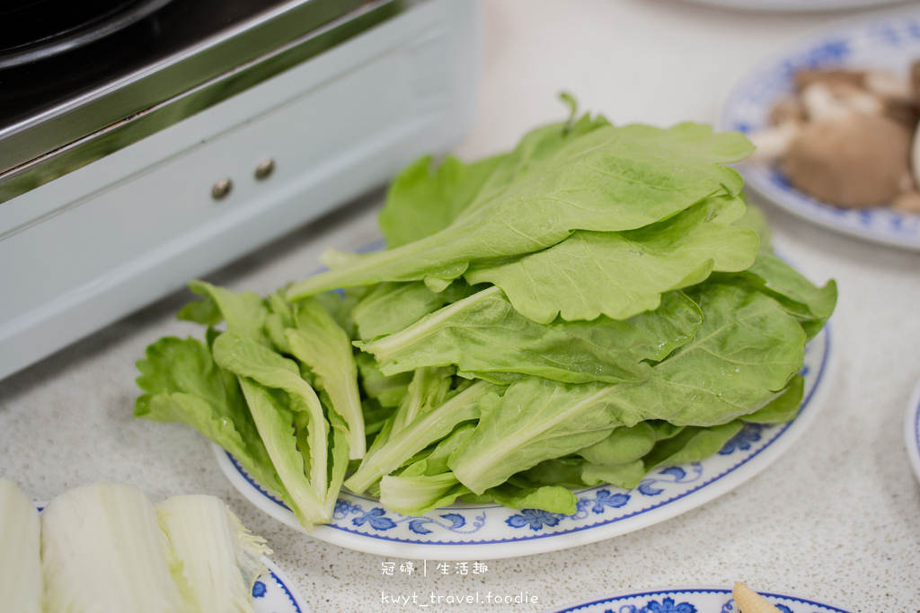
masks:
<path fill-rule="evenodd" d="M 693 295 L 703 324 L 647 380 L 604 386 L 528 378 L 500 399 L 483 399 L 477 430 L 449 462 L 454 475 L 481 494 L 515 472 L 598 443 L 617 426 L 647 419 L 718 426 L 782 394 L 804 356 L 795 318 L 753 289 L 707 283 Z"/>

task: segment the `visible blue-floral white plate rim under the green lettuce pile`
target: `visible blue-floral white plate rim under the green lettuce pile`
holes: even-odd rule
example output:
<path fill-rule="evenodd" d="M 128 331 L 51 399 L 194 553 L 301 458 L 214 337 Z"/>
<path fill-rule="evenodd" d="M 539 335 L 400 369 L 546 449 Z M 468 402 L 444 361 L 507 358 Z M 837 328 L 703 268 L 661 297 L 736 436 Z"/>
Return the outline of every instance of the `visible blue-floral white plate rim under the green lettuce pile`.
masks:
<path fill-rule="evenodd" d="M 700 462 L 652 471 L 638 487 L 612 485 L 576 492 L 574 515 L 500 505 L 453 505 L 404 516 L 371 497 L 342 492 L 332 523 L 316 539 L 409 560 L 490 560 L 609 539 L 646 528 L 702 505 L 765 469 L 808 426 L 827 391 L 834 353 L 830 329 L 806 347 L 805 395 L 799 416 L 781 426 L 745 425 L 722 450 Z M 224 449 L 213 446 L 227 478 L 271 517 L 303 531 L 282 501 L 256 482 Z"/>

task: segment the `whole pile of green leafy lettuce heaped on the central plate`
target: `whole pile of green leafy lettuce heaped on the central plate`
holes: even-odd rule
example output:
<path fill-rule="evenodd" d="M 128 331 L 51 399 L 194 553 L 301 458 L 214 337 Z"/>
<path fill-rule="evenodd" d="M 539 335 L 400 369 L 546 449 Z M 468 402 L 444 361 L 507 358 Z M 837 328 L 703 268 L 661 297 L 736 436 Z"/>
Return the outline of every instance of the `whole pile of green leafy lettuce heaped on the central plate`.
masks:
<path fill-rule="evenodd" d="M 343 485 L 405 514 L 570 514 L 568 488 L 636 487 L 793 419 L 837 292 L 773 255 L 726 166 L 750 143 L 565 99 L 511 152 L 409 165 L 384 251 L 328 253 L 267 298 L 193 283 L 180 317 L 206 342 L 148 349 L 136 413 L 200 429 L 308 527 Z"/>

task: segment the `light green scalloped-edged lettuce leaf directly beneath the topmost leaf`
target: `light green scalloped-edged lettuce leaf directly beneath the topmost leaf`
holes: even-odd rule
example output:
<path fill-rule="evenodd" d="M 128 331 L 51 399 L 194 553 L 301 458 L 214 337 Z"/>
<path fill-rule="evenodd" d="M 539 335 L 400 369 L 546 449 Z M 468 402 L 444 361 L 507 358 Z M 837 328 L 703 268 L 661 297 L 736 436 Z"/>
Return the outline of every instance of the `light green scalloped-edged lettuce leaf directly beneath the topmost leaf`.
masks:
<path fill-rule="evenodd" d="M 563 319 L 627 319 L 653 311 L 661 295 L 704 281 L 713 270 L 753 264 L 757 234 L 730 225 L 739 198 L 708 198 L 672 218 L 623 233 L 577 232 L 549 249 L 466 272 L 470 283 L 504 289 L 518 312 L 548 324 Z"/>

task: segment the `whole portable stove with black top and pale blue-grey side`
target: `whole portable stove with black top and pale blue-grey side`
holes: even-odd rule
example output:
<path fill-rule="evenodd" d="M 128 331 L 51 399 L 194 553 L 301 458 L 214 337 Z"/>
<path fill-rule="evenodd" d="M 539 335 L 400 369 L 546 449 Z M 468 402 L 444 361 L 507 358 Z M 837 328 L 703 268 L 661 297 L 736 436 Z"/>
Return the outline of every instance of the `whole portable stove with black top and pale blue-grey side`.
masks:
<path fill-rule="evenodd" d="M 456 142 L 478 13 L 0 3 L 0 378 Z"/>

